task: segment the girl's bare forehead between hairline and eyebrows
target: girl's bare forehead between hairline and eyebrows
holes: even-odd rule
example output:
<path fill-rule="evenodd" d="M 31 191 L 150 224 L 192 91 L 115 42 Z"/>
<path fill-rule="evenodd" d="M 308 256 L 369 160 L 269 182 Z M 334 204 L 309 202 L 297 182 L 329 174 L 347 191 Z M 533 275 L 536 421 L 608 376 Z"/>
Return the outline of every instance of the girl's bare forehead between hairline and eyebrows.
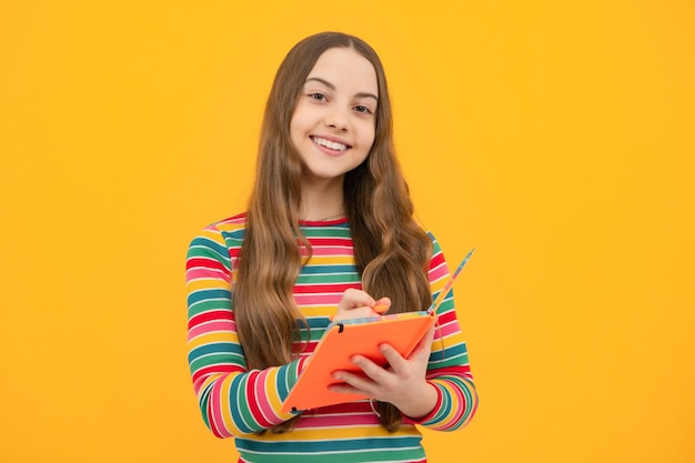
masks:
<path fill-rule="evenodd" d="M 330 48 L 324 51 L 306 78 L 320 78 L 344 90 L 373 94 L 379 92 L 374 66 L 348 47 Z"/>

